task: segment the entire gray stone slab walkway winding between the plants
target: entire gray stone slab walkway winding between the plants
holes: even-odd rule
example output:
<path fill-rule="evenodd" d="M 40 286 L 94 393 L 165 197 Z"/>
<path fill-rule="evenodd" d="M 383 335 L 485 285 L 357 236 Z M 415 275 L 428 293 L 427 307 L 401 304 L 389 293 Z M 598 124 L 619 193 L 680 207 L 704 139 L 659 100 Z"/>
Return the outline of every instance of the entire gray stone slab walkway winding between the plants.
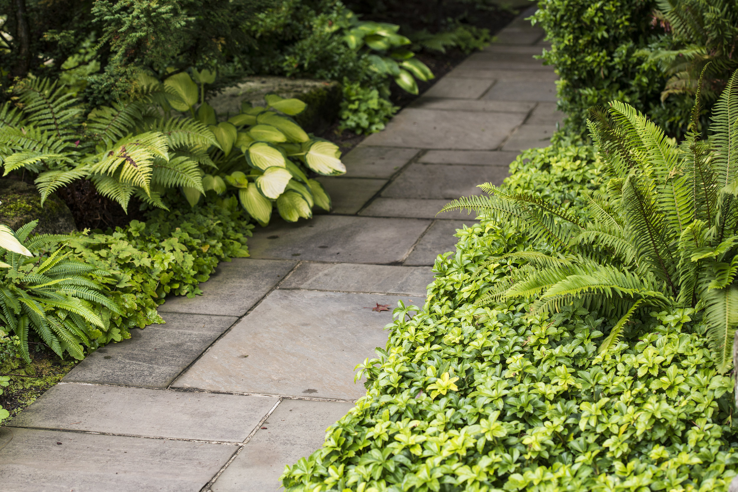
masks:
<path fill-rule="evenodd" d="M 275 491 L 364 394 L 354 366 L 392 318 L 369 308 L 424 302 L 473 223 L 436 212 L 547 145 L 541 38 L 514 21 L 320 180 L 334 212 L 258 229 L 203 296 L 168 299 L 165 325 L 97 350 L 1 428 L 0 491 Z"/>

